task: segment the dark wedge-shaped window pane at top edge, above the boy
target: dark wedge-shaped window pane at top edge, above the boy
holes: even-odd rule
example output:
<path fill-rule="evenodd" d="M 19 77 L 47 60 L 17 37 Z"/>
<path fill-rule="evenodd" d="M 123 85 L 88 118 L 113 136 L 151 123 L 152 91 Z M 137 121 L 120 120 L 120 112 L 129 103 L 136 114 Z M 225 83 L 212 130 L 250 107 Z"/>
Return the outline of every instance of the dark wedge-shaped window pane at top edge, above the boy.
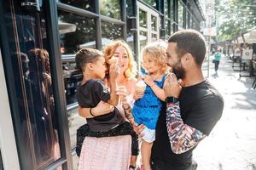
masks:
<path fill-rule="evenodd" d="M 95 12 L 95 0 L 60 0 L 60 2 L 73 7 L 83 8 L 90 12 Z"/>

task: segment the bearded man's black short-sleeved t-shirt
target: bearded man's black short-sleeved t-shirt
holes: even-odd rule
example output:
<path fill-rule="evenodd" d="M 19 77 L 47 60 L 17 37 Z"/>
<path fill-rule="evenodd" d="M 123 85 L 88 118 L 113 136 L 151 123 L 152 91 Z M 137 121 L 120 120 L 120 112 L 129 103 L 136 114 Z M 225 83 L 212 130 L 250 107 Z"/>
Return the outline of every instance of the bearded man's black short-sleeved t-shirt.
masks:
<path fill-rule="evenodd" d="M 218 91 L 207 82 L 182 89 L 179 104 L 183 122 L 209 135 L 218 122 L 224 108 L 224 100 Z M 192 166 L 192 151 L 172 152 L 166 129 L 166 105 L 162 108 L 156 127 L 155 141 L 152 148 L 152 161 L 160 162 L 161 170 L 189 170 Z"/>

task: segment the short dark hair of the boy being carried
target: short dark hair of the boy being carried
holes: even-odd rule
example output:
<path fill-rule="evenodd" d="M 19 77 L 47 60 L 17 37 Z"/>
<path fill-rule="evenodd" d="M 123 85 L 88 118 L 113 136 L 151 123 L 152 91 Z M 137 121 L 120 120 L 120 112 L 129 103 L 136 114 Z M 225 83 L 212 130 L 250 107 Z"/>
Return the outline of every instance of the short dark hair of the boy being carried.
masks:
<path fill-rule="evenodd" d="M 87 63 L 94 63 L 99 57 L 102 57 L 101 51 L 94 48 L 83 48 L 80 49 L 76 54 L 76 67 L 79 71 L 84 71 L 84 65 Z"/>

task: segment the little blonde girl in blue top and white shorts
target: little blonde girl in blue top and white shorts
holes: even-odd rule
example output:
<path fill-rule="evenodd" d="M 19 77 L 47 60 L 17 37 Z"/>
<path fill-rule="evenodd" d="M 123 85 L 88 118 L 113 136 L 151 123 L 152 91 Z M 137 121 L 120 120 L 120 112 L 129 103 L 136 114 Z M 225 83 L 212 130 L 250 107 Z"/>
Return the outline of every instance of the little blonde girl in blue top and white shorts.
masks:
<path fill-rule="evenodd" d="M 142 143 L 143 169 L 150 170 L 151 148 L 155 139 L 155 127 L 160 115 L 162 102 L 165 101 L 163 85 L 166 77 L 166 44 L 153 42 L 142 50 L 143 81 L 147 86 L 144 94 L 135 92 L 136 99 L 132 114 L 137 124 L 144 124 Z"/>

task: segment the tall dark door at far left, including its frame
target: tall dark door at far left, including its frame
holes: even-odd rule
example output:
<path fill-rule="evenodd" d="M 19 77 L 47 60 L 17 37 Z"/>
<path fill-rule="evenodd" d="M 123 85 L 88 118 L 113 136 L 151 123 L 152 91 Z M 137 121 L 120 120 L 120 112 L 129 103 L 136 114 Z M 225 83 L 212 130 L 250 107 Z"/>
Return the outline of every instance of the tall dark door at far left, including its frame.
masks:
<path fill-rule="evenodd" d="M 0 4 L 3 67 L 20 169 L 67 169 L 72 166 L 68 130 L 63 131 L 67 114 L 60 99 L 64 89 L 54 38 L 58 32 L 52 29 L 55 1 L 33 2 Z"/>

